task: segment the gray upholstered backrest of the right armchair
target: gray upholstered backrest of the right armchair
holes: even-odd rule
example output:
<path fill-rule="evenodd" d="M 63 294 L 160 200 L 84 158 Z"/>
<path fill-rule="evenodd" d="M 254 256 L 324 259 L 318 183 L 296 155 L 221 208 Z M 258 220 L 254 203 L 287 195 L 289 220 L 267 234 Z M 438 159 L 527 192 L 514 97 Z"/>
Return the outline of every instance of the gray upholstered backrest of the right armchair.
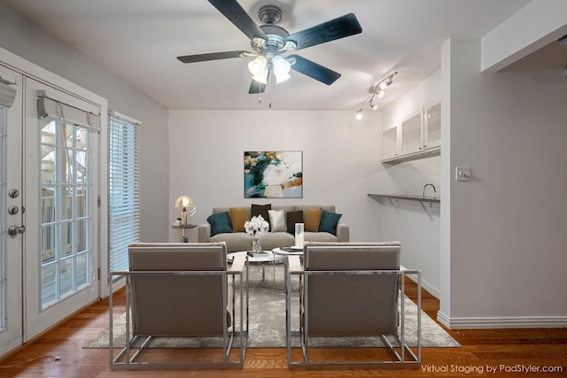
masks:
<path fill-rule="evenodd" d="M 309 336 L 379 336 L 396 333 L 398 274 L 350 274 L 399 270 L 400 243 L 306 243 L 304 266 L 310 274 L 304 293 Z"/>

